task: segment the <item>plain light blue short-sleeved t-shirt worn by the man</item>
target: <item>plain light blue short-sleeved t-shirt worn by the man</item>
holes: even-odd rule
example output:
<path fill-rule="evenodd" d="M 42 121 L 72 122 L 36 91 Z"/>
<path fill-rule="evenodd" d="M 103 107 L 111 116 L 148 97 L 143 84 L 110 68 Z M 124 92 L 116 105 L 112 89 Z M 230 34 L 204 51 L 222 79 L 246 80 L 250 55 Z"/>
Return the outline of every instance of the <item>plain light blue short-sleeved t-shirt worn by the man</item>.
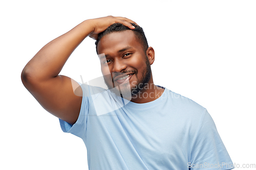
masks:
<path fill-rule="evenodd" d="M 137 104 L 109 90 L 81 87 L 77 122 L 60 119 L 60 126 L 82 138 L 89 169 L 232 169 L 214 121 L 194 101 L 165 88 L 157 100 Z"/>

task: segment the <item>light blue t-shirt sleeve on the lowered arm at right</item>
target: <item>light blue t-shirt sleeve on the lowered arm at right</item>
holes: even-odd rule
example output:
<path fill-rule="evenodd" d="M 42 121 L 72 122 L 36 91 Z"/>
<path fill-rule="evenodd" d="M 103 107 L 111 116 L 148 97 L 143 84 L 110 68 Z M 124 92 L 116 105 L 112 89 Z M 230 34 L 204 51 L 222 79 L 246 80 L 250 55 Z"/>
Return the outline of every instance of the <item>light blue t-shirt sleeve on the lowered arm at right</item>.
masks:
<path fill-rule="evenodd" d="M 190 169 L 232 169 L 233 163 L 207 110 L 204 110 L 191 152 Z"/>

